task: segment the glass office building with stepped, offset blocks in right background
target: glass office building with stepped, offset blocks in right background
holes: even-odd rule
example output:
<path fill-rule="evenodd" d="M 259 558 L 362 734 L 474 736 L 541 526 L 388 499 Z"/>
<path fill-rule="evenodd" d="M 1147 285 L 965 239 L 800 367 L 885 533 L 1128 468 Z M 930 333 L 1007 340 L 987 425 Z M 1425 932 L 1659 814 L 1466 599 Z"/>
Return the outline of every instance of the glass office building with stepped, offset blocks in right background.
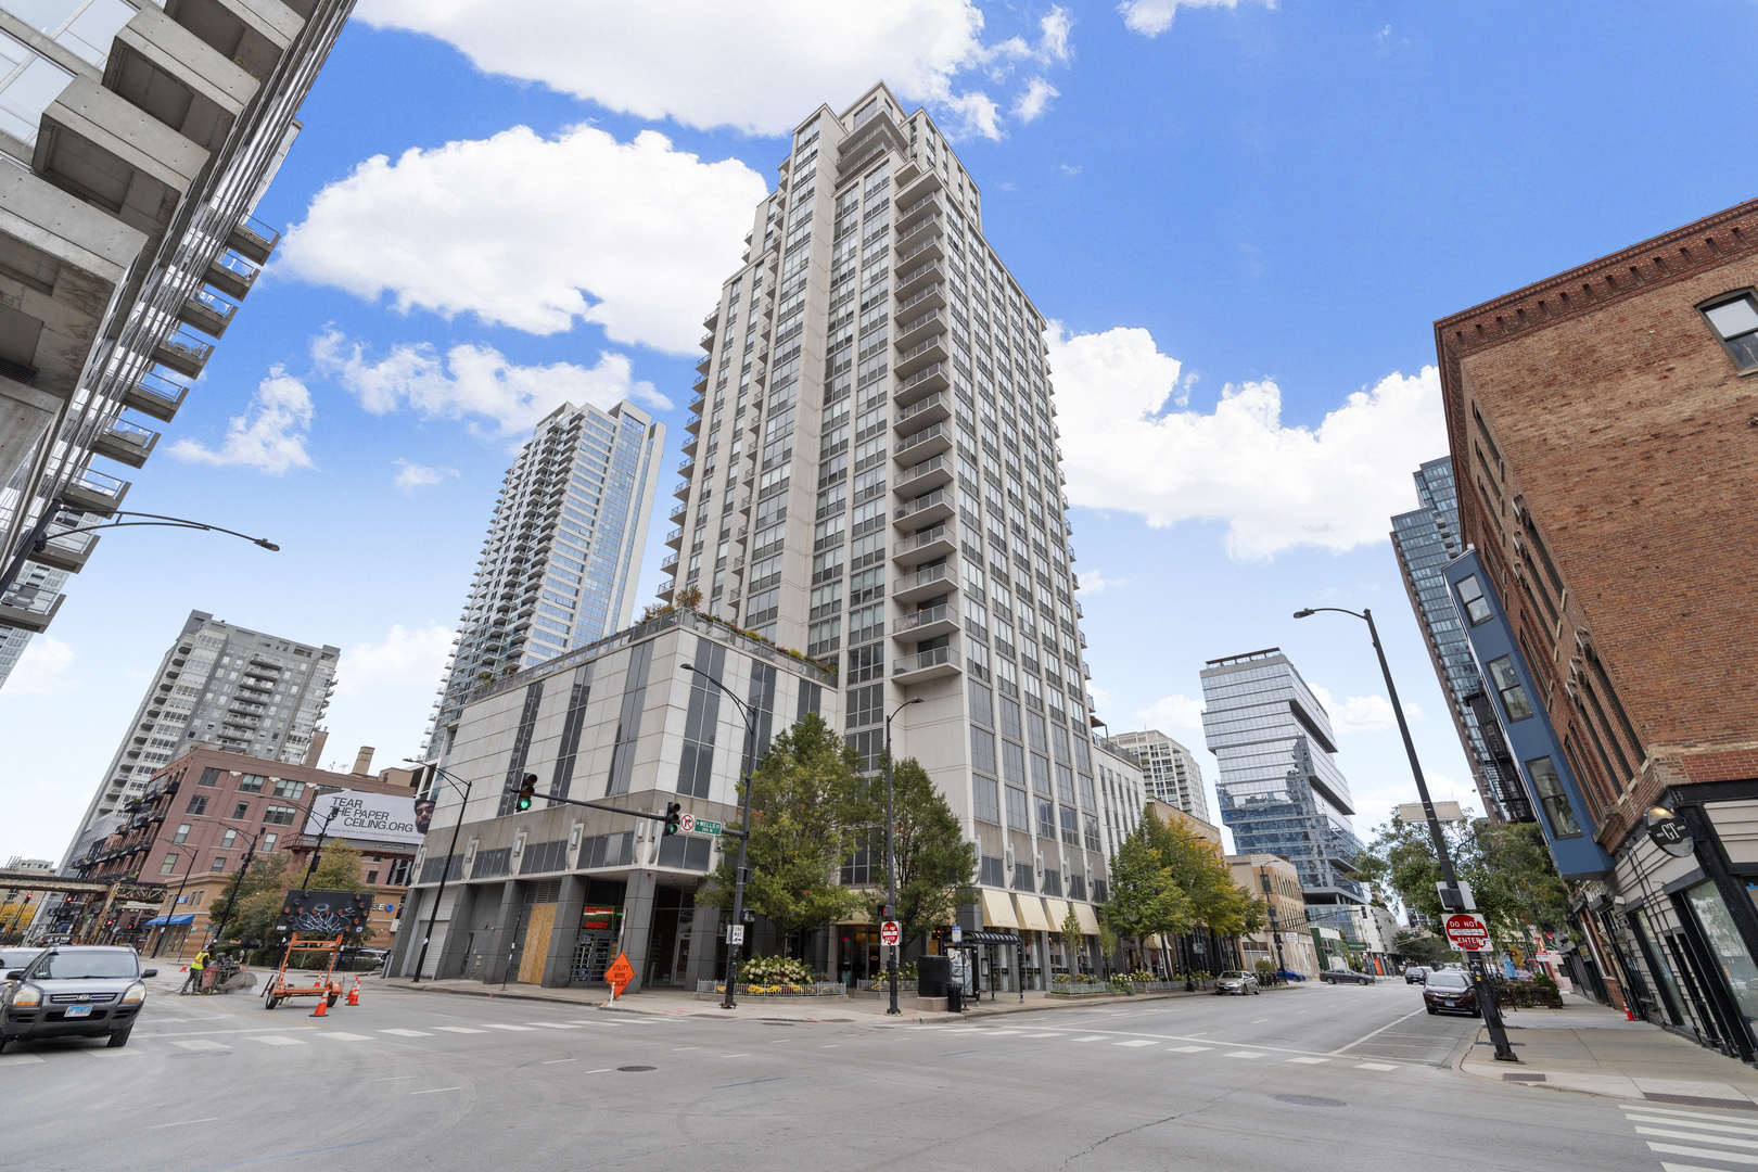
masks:
<path fill-rule="evenodd" d="M 1215 796 L 1239 854 L 1290 859 L 1311 905 L 1366 903 L 1331 717 L 1282 648 L 1208 661 L 1202 699 Z"/>

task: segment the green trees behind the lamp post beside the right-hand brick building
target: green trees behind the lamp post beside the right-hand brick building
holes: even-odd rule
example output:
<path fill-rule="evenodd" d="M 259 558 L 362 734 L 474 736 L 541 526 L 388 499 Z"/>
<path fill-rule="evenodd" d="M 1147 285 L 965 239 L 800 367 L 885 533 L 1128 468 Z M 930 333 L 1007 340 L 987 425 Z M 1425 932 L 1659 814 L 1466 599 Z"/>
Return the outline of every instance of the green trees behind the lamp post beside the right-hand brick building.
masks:
<path fill-rule="evenodd" d="M 1531 822 L 1443 822 L 1454 872 L 1471 884 L 1477 912 L 1498 942 L 1519 940 L 1531 922 L 1556 931 L 1568 922 L 1568 884 L 1556 873 L 1551 850 Z M 1357 866 L 1369 882 L 1389 886 L 1413 914 L 1442 921 L 1440 857 L 1427 822 L 1405 822 L 1392 812 Z"/>

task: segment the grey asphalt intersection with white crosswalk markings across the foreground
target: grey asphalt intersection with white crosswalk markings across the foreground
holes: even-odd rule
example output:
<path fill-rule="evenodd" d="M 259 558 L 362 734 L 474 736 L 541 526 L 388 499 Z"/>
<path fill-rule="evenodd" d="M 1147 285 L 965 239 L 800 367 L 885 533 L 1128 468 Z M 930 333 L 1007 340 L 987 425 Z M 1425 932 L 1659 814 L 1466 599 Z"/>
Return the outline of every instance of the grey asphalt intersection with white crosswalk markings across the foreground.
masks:
<path fill-rule="evenodd" d="M 707 1003 L 663 1019 L 371 982 L 360 1007 L 308 1012 L 155 995 L 125 1049 L 7 1047 L 0 1168 L 1758 1163 L 1716 1161 L 1758 1149 L 1735 1139 L 1758 1137 L 1758 1112 L 1628 1107 L 1442 1068 L 1475 1021 L 1429 1017 L 1401 982 L 974 1026 L 723 1021 Z"/>

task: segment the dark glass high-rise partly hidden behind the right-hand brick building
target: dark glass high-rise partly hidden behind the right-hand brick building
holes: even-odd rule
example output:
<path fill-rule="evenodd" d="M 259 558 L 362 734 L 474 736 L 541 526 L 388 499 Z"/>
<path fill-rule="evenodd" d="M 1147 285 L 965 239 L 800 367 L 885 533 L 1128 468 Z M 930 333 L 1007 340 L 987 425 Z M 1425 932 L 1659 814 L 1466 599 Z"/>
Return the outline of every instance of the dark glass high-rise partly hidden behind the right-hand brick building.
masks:
<path fill-rule="evenodd" d="M 1415 471 L 1420 508 L 1392 517 L 1392 552 L 1398 573 L 1410 594 L 1410 608 L 1422 627 L 1435 675 L 1447 692 L 1447 712 L 1471 763 L 1484 814 L 1510 822 L 1529 822 L 1531 803 L 1514 768 L 1514 756 L 1501 736 L 1501 726 L 1484 696 L 1484 676 L 1471 655 L 1452 592 L 1442 568 L 1463 552 L 1459 548 L 1459 490 L 1454 483 L 1452 457 L 1429 460 Z"/>

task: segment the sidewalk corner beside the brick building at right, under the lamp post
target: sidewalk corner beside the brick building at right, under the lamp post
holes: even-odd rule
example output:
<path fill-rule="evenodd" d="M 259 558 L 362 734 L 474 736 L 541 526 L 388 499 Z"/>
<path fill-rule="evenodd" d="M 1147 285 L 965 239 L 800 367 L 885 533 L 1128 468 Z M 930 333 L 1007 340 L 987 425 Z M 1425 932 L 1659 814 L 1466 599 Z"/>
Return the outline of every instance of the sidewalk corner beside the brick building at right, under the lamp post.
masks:
<path fill-rule="evenodd" d="M 1478 1030 L 1459 1070 L 1496 1082 L 1758 1111 L 1758 1070 L 1587 998 L 1565 995 L 1563 1005 L 1503 1010 L 1521 1061 L 1494 1061 L 1489 1031 Z"/>

